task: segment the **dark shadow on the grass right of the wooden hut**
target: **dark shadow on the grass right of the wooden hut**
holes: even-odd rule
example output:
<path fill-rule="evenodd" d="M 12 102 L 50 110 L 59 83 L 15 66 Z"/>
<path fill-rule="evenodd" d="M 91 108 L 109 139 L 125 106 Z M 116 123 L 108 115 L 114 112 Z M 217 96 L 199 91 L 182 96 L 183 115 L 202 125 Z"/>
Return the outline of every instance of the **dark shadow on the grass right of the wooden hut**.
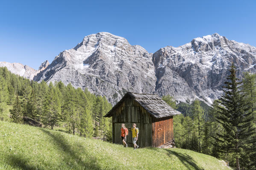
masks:
<path fill-rule="evenodd" d="M 154 147 L 150 149 L 159 151 L 159 149 Z M 171 149 L 163 149 L 163 150 L 168 152 L 169 157 L 171 157 L 172 155 L 176 156 L 182 162 L 182 164 L 184 164 L 184 166 L 187 167 L 188 170 L 204 170 L 203 168 L 198 167 L 197 162 L 194 161 L 194 159 L 188 154 L 178 153 Z"/>

